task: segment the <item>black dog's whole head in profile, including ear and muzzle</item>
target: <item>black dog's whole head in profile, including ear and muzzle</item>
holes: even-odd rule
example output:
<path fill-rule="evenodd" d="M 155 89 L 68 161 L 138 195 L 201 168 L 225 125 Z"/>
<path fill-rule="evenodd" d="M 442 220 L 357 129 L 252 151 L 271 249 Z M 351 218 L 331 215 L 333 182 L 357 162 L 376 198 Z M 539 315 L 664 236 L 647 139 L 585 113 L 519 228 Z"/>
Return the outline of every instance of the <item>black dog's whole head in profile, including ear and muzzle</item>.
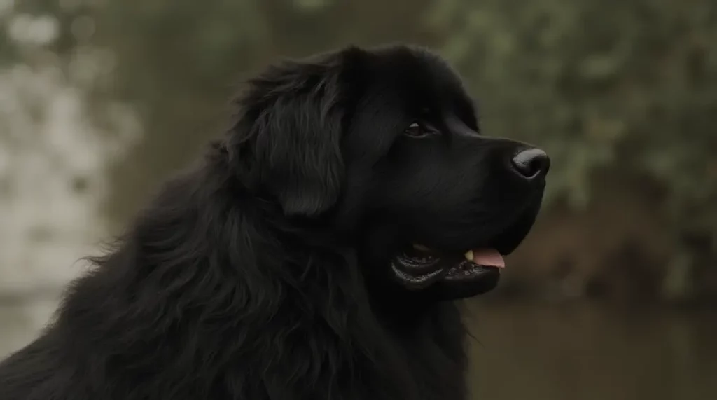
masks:
<path fill-rule="evenodd" d="M 451 299 L 498 282 L 540 208 L 546 153 L 480 132 L 460 77 L 416 47 L 351 47 L 250 81 L 244 181 L 356 247 L 369 282 Z"/>

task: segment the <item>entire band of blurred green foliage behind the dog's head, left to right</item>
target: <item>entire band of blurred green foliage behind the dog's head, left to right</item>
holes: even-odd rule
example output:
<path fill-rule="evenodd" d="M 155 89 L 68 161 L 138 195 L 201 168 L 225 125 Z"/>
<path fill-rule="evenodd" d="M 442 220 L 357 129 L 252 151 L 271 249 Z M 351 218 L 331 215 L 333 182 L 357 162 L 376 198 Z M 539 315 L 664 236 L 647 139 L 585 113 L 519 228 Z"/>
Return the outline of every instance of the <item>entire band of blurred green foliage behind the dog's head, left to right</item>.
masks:
<path fill-rule="evenodd" d="M 87 85 L 91 105 L 139 113 L 145 135 L 113 172 L 118 221 L 222 130 L 242 78 L 278 57 L 408 41 L 456 65 L 486 133 L 551 153 L 549 207 L 588 210 L 597 176 L 645 182 L 628 190 L 675 243 L 666 295 L 717 270 L 714 0 L 24 0 L 13 12 L 55 16 L 49 48 L 68 64 L 111 65 Z M 3 30 L 0 65 L 28 48 Z"/>

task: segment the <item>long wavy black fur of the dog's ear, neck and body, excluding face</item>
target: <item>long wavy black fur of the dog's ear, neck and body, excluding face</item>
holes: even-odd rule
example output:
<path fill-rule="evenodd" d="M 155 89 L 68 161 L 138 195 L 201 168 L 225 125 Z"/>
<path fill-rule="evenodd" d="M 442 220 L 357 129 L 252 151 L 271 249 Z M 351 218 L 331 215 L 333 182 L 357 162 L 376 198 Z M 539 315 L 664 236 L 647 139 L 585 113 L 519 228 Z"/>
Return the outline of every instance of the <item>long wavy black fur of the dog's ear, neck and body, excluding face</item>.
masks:
<path fill-rule="evenodd" d="M 456 306 L 370 289 L 329 217 L 360 54 L 250 81 L 229 134 L 0 363 L 0 399 L 465 399 Z"/>

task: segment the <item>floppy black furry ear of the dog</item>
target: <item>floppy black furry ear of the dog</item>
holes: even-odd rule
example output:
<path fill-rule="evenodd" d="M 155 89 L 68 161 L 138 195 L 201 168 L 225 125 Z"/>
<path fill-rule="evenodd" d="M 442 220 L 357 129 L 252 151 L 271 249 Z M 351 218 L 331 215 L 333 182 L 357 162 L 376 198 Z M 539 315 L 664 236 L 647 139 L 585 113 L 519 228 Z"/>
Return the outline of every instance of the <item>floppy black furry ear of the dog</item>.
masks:
<path fill-rule="evenodd" d="M 315 216 L 338 201 L 342 90 L 341 60 L 330 54 L 270 67 L 239 99 L 230 154 L 237 152 L 252 184 L 287 215 Z"/>

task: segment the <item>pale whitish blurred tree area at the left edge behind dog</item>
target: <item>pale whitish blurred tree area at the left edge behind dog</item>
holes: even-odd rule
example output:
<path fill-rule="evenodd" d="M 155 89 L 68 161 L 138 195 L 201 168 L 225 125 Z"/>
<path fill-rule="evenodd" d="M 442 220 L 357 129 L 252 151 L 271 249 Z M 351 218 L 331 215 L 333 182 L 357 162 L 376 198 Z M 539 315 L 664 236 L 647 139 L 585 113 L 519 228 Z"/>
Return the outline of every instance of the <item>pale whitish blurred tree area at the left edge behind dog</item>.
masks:
<path fill-rule="evenodd" d="M 95 107 L 111 135 L 87 118 L 106 50 L 87 41 L 92 22 L 79 11 L 77 1 L 0 0 L 0 302 L 54 295 L 75 275 L 58 259 L 106 234 L 104 168 L 136 126 L 111 101 Z"/>

